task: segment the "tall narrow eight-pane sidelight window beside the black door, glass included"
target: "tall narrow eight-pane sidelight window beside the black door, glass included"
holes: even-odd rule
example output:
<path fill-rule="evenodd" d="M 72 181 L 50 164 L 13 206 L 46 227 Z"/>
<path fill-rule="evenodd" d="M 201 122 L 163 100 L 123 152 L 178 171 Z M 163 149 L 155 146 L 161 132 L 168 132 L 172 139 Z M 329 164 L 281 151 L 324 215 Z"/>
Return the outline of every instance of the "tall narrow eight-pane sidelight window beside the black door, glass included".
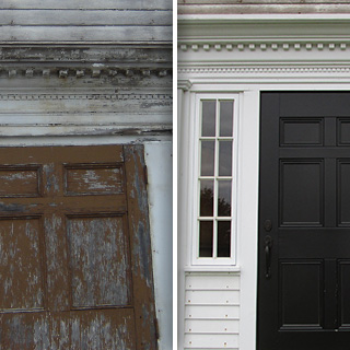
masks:
<path fill-rule="evenodd" d="M 233 264 L 237 162 L 236 98 L 199 98 L 195 261 Z"/>

